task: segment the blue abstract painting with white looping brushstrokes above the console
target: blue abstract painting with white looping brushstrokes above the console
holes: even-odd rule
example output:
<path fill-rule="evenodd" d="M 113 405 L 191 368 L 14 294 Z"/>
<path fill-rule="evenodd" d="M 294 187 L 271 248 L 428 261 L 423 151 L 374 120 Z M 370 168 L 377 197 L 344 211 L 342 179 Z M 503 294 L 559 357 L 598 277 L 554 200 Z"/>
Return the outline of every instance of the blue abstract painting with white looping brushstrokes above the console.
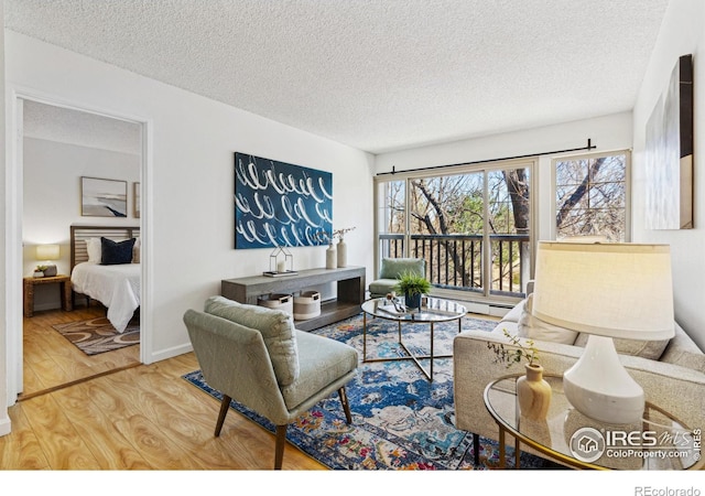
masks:
<path fill-rule="evenodd" d="M 333 174 L 235 153 L 235 248 L 316 246 L 333 229 Z"/>

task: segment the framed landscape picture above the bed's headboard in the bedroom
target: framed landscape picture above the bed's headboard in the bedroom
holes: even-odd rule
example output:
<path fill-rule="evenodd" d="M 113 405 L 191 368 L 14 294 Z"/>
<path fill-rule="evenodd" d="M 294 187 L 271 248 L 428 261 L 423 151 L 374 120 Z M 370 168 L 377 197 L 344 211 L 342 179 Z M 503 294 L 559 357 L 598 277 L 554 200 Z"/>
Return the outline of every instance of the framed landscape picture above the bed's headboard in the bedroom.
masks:
<path fill-rule="evenodd" d="M 80 215 L 85 217 L 127 217 L 127 181 L 82 176 Z"/>

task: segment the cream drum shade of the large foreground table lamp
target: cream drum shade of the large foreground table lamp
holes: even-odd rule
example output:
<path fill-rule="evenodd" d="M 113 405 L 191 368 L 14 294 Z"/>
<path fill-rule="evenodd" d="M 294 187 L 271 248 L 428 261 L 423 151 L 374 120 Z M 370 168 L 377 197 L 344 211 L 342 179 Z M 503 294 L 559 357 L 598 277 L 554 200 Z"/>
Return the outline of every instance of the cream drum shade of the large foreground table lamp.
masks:
<path fill-rule="evenodd" d="M 532 312 L 607 337 L 673 337 L 670 247 L 539 242 Z"/>

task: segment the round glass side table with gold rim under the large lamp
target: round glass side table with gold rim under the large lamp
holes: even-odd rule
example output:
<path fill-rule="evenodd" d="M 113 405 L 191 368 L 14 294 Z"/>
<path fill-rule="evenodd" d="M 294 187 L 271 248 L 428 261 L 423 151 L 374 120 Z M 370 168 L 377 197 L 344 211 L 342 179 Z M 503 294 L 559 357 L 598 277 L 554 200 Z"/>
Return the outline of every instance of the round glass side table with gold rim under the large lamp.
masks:
<path fill-rule="evenodd" d="M 690 429 L 647 402 L 641 422 L 609 424 L 585 417 L 565 398 L 563 377 L 544 375 L 553 390 L 543 421 L 519 412 L 517 379 L 500 377 L 485 388 L 485 406 L 499 428 L 499 463 L 506 467 L 506 434 L 514 438 L 516 467 L 521 443 L 561 464 L 592 470 L 690 470 L 703 466 L 701 428 Z"/>

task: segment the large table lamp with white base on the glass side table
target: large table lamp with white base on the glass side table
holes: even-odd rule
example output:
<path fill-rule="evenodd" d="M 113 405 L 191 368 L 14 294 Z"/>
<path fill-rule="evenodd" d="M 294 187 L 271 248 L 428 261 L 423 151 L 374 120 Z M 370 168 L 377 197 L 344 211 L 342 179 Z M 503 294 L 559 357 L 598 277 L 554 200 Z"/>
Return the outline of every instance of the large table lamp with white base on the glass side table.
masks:
<path fill-rule="evenodd" d="M 589 334 L 577 363 L 563 374 L 576 410 L 604 422 L 638 422 L 643 389 L 619 362 L 612 338 L 673 337 L 668 245 L 539 242 L 532 313 Z"/>

